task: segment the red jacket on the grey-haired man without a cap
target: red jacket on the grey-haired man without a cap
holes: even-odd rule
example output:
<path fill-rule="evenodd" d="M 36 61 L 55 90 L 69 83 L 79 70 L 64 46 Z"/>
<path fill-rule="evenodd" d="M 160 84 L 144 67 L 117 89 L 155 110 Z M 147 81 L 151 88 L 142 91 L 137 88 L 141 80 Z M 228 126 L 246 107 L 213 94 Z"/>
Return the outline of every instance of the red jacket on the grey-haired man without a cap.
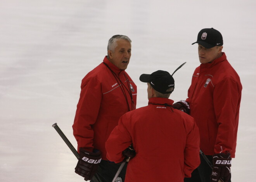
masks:
<path fill-rule="evenodd" d="M 125 70 L 119 70 L 105 57 L 81 83 L 81 94 L 73 124 L 73 134 L 78 149 L 96 148 L 101 151 L 102 159 L 107 160 L 105 142 L 112 129 L 117 126 L 119 118 L 135 109 L 136 98 L 137 86 L 129 75 Z"/>

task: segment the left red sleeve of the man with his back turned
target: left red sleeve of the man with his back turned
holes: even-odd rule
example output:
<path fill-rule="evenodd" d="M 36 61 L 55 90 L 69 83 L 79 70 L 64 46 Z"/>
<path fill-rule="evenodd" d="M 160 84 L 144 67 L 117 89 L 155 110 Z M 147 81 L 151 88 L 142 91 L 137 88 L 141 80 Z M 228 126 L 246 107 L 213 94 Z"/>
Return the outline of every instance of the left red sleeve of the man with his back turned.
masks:
<path fill-rule="evenodd" d="M 118 126 L 112 130 L 106 141 L 107 159 L 115 163 L 120 163 L 124 160 L 122 152 L 132 143 L 131 135 L 124 121 L 127 121 L 126 114 L 120 117 Z"/>

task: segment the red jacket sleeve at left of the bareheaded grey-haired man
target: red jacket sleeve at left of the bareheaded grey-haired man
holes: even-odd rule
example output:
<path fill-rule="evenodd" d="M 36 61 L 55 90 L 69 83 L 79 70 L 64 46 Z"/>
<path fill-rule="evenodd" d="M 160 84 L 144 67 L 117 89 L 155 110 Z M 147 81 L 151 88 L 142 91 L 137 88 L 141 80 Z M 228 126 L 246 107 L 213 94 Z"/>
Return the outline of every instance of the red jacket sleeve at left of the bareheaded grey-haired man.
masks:
<path fill-rule="evenodd" d="M 83 78 L 80 99 L 77 104 L 76 116 L 73 124 L 73 134 L 79 148 L 93 149 L 92 126 L 97 120 L 102 99 L 101 84 L 97 78 Z"/>

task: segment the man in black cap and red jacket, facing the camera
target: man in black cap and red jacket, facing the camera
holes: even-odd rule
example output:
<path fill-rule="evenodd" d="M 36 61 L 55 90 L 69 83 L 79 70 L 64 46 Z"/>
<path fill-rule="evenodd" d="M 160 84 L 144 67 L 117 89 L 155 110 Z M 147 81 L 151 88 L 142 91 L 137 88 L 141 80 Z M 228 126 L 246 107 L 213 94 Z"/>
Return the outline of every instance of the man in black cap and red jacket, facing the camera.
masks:
<path fill-rule="evenodd" d="M 242 85 L 222 52 L 219 31 L 202 29 L 198 36 L 201 65 L 194 71 L 188 98 L 173 106 L 194 117 L 200 132 L 200 147 L 213 163 L 213 170 L 201 157 L 197 168 L 202 182 L 231 182 L 231 159 L 235 157 Z M 193 44 L 195 44 L 193 43 Z M 189 111 L 190 110 L 190 111 Z M 200 181 L 191 179 L 185 182 Z"/>

